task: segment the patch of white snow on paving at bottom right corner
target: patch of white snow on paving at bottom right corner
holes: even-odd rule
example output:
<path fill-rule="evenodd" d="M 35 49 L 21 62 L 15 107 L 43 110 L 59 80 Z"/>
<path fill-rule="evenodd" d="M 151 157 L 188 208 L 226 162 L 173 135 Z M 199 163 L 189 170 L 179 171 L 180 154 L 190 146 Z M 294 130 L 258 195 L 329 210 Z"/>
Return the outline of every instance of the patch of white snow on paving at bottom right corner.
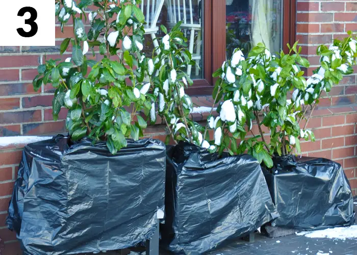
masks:
<path fill-rule="evenodd" d="M 310 238 L 329 238 L 346 240 L 346 238 L 357 238 L 357 225 L 349 227 L 334 227 L 326 230 L 304 231 L 296 233 L 298 236 L 305 236 Z"/>

